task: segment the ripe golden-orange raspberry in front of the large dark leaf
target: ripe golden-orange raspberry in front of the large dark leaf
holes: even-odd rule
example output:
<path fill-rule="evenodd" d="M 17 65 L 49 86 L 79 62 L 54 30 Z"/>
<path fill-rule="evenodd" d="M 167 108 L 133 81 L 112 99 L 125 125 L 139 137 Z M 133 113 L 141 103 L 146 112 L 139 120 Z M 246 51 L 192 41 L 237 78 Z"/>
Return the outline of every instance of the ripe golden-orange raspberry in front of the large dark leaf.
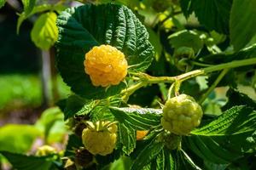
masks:
<path fill-rule="evenodd" d="M 108 87 L 125 78 L 128 64 L 125 55 L 117 48 L 101 45 L 85 54 L 84 67 L 94 86 Z"/>

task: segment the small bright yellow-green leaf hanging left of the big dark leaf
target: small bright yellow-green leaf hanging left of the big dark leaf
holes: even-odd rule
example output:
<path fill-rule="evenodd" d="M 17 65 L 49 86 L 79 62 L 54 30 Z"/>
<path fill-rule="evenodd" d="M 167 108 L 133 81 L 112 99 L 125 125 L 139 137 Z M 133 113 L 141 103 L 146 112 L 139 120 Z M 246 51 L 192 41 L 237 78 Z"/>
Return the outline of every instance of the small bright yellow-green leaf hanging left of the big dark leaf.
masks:
<path fill-rule="evenodd" d="M 35 22 L 31 37 L 32 42 L 36 44 L 38 48 L 49 50 L 58 38 L 58 28 L 55 24 L 57 15 L 54 12 L 48 12 L 41 14 L 38 20 Z"/>

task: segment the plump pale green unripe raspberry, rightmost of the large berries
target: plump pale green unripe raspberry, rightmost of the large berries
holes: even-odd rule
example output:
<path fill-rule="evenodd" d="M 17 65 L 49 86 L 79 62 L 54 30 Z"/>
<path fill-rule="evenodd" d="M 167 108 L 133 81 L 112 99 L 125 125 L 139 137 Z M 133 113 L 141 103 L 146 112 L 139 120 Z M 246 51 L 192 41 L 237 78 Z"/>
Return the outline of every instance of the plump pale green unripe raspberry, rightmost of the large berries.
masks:
<path fill-rule="evenodd" d="M 166 101 L 161 125 L 171 133 L 186 135 L 200 125 L 202 115 L 201 106 L 195 99 L 181 94 Z"/>

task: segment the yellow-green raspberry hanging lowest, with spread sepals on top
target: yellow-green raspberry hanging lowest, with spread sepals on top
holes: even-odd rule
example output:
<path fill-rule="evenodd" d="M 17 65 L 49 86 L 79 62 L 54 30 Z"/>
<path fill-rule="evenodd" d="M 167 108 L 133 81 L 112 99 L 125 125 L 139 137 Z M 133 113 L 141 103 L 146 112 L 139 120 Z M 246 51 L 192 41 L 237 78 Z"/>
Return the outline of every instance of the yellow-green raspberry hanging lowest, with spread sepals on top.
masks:
<path fill-rule="evenodd" d="M 93 155 L 111 154 L 116 144 L 116 132 L 117 126 L 111 122 L 89 122 L 82 134 L 84 147 Z"/>

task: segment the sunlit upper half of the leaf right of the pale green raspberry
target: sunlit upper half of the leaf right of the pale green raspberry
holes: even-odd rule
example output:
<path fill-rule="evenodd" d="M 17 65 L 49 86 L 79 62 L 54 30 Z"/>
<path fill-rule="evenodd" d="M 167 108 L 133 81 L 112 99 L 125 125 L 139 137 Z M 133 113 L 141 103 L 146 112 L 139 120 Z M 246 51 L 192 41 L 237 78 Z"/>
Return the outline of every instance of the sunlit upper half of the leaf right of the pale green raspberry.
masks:
<path fill-rule="evenodd" d="M 234 106 L 206 126 L 192 131 L 201 136 L 223 136 L 253 132 L 256 128 L 256 111 L 245 105 Z"/>

